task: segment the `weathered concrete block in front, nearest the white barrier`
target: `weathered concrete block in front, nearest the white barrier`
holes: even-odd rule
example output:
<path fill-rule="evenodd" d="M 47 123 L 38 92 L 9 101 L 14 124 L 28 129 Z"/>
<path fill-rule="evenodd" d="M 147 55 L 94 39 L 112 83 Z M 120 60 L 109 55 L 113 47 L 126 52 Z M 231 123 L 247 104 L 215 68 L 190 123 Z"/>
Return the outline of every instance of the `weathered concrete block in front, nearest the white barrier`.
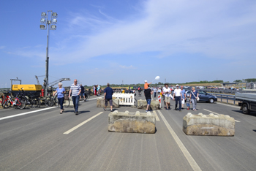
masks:
<path fill-rule="evenodd" d="M 119 113 L 117 110 L 108 115 L 109 132 L 136 132 L 154 134 L 156 132 L 155 115 L 148 113 Z"/>

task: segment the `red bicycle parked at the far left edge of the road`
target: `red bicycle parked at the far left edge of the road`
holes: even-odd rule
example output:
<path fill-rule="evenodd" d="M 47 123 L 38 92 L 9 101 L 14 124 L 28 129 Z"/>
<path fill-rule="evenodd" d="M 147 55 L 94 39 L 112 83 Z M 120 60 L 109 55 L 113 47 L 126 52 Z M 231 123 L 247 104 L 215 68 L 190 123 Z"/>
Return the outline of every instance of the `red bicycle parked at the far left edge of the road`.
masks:
<path fill-rule="evenodd" d="M 4 108 L 9 108 L 11 105 L 16 106 L 18 109 L 24 109 L 26 107 L 26 99 L 23 96 L 19 96 L 19 93 L 16 94 L 15 101 L 13 102 L 10 92 L 8 92 L 2 103 Z"/>

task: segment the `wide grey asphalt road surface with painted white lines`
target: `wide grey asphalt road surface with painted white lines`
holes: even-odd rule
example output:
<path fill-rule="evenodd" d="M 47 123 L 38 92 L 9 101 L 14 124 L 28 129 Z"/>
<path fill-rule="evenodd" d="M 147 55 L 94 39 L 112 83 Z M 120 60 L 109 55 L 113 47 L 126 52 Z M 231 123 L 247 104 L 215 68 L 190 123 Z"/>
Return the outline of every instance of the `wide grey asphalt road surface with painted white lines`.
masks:
<path fill-rule="evenodd" d="M 110 111 L 97 108 L 94 97 L 80 102 L 79 115 L 72 108 L 62 115 L 56 107 L 0 109 L 0 170 L 255 170 L 255 113 L 244 115 L 227 104 L 198 103 L 198 110 L 189 112 L 230 115 L 236 119 L 236 134 L 187 136 L 182 118 L 188 111 L 174 111 L 171 104 L 172 110 L 155 111 L 155 134 L 108 132 Z M 125 110 L 138 109 L 118 108 Z"/>

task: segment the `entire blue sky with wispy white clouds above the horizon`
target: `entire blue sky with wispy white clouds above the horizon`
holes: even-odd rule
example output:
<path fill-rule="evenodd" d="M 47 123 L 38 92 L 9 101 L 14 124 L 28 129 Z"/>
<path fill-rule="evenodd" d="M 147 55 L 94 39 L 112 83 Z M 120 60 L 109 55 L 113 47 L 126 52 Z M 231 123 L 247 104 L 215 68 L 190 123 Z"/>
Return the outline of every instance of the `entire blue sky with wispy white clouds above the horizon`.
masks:
<path fill-rule="evenodd" d="M 0 88 L 16 77 L 36 84 L 35 75 L 45 75 L 47 30 L 39 25 L 48 10 L 58 13 L 49 36 L 49 82 L 256 77 L 255 0 L 1 0 Z"/>

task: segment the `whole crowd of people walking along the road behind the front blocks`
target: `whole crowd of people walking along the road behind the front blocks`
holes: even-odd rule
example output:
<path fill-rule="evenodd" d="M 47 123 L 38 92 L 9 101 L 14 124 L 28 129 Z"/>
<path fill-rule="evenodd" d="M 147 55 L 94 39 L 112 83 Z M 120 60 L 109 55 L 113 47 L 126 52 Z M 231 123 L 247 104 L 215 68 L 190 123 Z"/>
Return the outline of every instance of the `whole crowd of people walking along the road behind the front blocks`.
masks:
<path fill-rule="evenodd" d="M 197 110 L 197 99 L 198 99 L 198 91 L 195 90 L 195 87 L 192 88 L 192 91 L 190 94 L 186 94 L 186 91 L 184 90 L 183 86 L 176 85 L 175 90 L 173 91 L 172 88 L 168 87 L 168 84 L 165 83 L 164 87 L 150 87 L 151 83 L 148 83 L 147 80 L 144 81 L 144 95 L 146 97 L 147 107 L 146 112 L 150 111 L 150 104 L 151 99 L 154 94 L 154 98 L 156 98 L 157 94 L 162 96 L 162 100 L 165 104 L 165 109 L 170 110 L 170 102 L 171 100 L 175 101 L 175 108 L 174 110 L 184 110 L 184 104 L 186 102 L 187 104 L 187 110 L 190 109 L 190 103 L 192 102 L 192 110 Z M 100 86 L 94 85 L 94 96 L 100 95 Z M 124 89 L 121 90 L 122 93 L 135 93 L 135 90 L 128 89 L 127 92 Z M 141 93 L 142 88 L 138 87 L 139 94 Z M 56 89 L 56 91 L 53 93 L 53 96 L 57 94 L 58 101 L 61 107 L 61 114 L 64 112 L 63 103 L 64 103 L 64 94 L 66 93 L 65 88 L 62 88 L 62 83 L 59 83 L 59 88 Z M 110 103 L 110 110 L 113 111 L 113 89 L 110 88 L 110 84 L 107 84 L 107 88 L 104 90 L 104 99 L 105 99 L 105 108 L 108 106 L 108 103 Z M 78 80 L 74 80 L 74 83 L 70 87 L 69 91 L 69 98 L 72 98 L 72 102 L 74 104 L 74 113 L 75 115 L 78 115 L 78 103 L 79 100 L 82 98 L 85 98 L 85 88 L 82 86 L 82 84 L 78 84 Z M 178 107 L 178 108 L 177 108 Z"/>

